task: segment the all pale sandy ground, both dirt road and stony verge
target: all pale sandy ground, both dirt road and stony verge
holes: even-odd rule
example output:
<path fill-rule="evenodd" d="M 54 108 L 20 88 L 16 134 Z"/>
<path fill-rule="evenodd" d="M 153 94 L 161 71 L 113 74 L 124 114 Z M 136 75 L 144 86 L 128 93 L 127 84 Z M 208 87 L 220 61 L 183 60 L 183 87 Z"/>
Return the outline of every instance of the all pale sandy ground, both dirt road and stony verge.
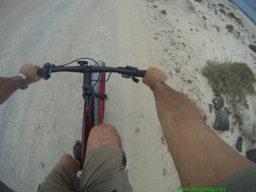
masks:
<path fill-rule="evenodd" d="M 154 3 L 145 0 L 3 0 L 0 2 L 0 76 L 17 75 L 24 63 L 59 65 L 80 57 L 102 60 L 113 67 L 131 65 L 145 70 L 148 66 L 158 66 L 169 74 L 167 84 L 194 102 L 202 114 L 206 114 L 206 123 L 213 129 L 215 114 L 208 111 L 208 104 L 212 104 L 214 96 L 201 68 L 208 59 L 227 57 L 246 62 L 255 71 L 256 54 L 248 45 L 256 41 L 252 37 L 256 30 L 227 1 L 191 2 L 196 6 L 195 13 L 188 9 L 185 0 Z M 245 28 L 222 13 L 215 15 L 212 4 L 218 3 L 225 4 L 242 18 Z M 160 13 L 162 9 L 167 15 Z M 219 33 L 215 24 L 221 27 Z M 224 28 L 226 24 L 233 24 L 235 32 L 228 33 Z M 241 32 L 244 44 L 236 31 Z M 171 45 L 173 42 L 176 44 Z M 177 66 L 180 73 L 174 70 Z M 192 80 L 191 84 L 186 82 L 188 79 Z M 6 185 L 18 192 L 35 191 L 61 156 L 72 154 L 74 141 L 81 139 L 81 87 L 82 74 L 52 74 L 48 81 L 41 80 L 25 91 L 18 90 L 0 106 L 0 179 Z M 121 136 L 134 191 L 176 191 L 176 187 L 181 186 L 180 180 L 167 146 L 161 144 L 163 135 L 150 89 L 141 81 L 135 84 L 131 79 L 111 74 L 106 93 L 109 100 L 104 122 L 115 126 Z M 255 97 L 247 100 L 250 109 L 245 112 L 249 120 L 240 128 L 249 130 L 251 135 Z M 229 120 L 231 128 L 234 119 L 229 116 Z M 137 128 L 140 131 L 135 133 Z M 234 131 L 233 134 L 231 131 L 215 133 L 235 148 L 243 132 L 237 126 Z M 241 154 L 245 156 L 247 150 L 254 148 L 256 146 L 243 136 Z M 39 168 L 40 163 L 43 168 Z M 165 168 L 167 176 L 163 175 Z"/>

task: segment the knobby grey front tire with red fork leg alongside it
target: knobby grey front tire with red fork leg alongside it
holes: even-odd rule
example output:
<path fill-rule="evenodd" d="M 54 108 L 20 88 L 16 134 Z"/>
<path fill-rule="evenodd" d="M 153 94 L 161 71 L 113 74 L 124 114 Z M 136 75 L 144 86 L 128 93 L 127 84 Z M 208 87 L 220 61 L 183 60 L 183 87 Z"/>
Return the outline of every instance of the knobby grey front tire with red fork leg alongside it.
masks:
<path fill-rule="evenodd" d="M 97 62 L 99 66 L 105 66 L 105 63 L 103 61 L 98 61 Z M 98 66 L 95 63 L 95 66 Z M 105 93 L 105 82 L 100 82 L 100 81 L 105 81 L 105 73 L 100 73 L 100 78 L 99 81 L 96 83 L 99 77 L 99 73 L 93 73 L 91 80 L 91 86 L 93 86 L 95 83 L 96 85 L 93 87 L 96 93 Z M 100 125 L 103 123 L 103 117 L 104 117 L 104 106 L 105 106 L 105 100 L 100 99 L 100 98 L 95 98 L 95 126 Z"/>

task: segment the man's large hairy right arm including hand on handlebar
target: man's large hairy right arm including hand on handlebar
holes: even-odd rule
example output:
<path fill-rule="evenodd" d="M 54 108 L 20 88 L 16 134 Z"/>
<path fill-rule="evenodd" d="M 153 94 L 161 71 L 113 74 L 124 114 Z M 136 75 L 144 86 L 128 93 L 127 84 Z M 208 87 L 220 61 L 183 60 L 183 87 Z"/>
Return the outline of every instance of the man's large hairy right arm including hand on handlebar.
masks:
<path fill-rule="evenodd" d="M 150 67 L 143 83 L 154 93 L 163 135 L 182 186 L 217 186 L 256 166 L 211 131 L 198 109 L 165 84 L 167 79 L 165 72 Z"/>

